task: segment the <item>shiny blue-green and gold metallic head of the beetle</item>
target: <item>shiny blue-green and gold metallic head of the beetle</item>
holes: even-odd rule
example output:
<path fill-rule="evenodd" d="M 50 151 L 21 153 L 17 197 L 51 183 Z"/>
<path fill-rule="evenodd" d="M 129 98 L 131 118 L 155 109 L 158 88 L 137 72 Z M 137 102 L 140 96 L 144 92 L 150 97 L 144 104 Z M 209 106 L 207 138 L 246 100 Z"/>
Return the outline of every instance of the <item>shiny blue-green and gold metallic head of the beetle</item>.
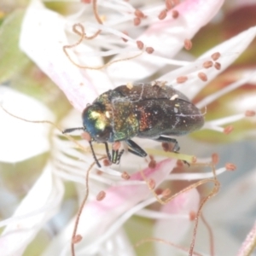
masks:
<path fill-rule="evenodd" d="M 92 105 L 84 109 L 83 123 L 86 131 L 96 142 L 108 142 L 111 135 L 108 114 L 100 105 Z"/>

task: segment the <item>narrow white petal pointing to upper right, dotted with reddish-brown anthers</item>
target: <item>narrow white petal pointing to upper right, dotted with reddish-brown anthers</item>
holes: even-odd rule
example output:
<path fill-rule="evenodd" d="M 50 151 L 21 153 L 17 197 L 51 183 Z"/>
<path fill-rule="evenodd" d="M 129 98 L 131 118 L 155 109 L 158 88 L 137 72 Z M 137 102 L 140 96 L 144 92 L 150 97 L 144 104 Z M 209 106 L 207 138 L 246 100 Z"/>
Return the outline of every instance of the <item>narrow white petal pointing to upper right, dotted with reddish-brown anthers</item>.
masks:
<path fill-rule="evenodd" d="M 160 80 L 167 80 L 172 85 L 177 85 L 178 90 L 183 91 L 190 99 L 194 98 L 195 95 L 209 83 L 212 79 L 218 76 L 218 73 L 224 71 L 225 68 L 229 67 L 230 64 L 236 60 L 241 53 L 247 49 L 247 46 L 253 41 L 253 38 L 256 36 L 256 26 L 253 26 L 247 29 L 244 32 L 236 35 L 234 38 L 230 38 L 222 44 L 218 44 L 212 49 L 209 49 L 205 54 L 201 55 L 196 61 L 191 62 L 191 64 L 180 67 L 166 75 L 160 77 Z M 211 55 L 219 52 L 220 57 L 218 62 L 221 63 L 221 69 L 217 70 L 214 67 L 212 68 L 203 68 L 203 63 L 205 61 L 212 61 Z M 203 82 L 198 77 L 198 73 L 203 72 L 207 74 L 207 82 Z M 244 82 L 255 78 L 256 73 L 247 73 L 247 76 L 244 78 Z M 179 76 L 188 76 L 188 80 L 180 85 L 177 84 L 177 77 Z M 241 82 L 241 84 L 243 84 Z M 239 84 L 238 84 L 239 85 Z M 237 86 L 238 86 L 237 85 Z M 240 85 L 239 85 L 240 86 Z M 234 90 L 234 86 L 232 90 Z M 229 92 L 227 89 L 226 92 Z M 211 97 L 211 96 L 209 96 Z M 215 99 L 215 97 L 213 97 Z M 208 102 L 208 99 L 207 99 Z M 200 108 L 204 107 L 203 102 L 201 102 Z"/>

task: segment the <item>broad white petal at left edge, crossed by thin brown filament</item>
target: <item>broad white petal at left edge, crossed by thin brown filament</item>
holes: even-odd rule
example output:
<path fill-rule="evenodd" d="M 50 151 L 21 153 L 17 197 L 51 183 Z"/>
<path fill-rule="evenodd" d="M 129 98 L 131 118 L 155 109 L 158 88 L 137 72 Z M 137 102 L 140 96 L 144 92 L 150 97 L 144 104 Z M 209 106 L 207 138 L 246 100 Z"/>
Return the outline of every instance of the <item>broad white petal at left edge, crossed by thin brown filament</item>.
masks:
<path fill-rule="evenodd" d="M 43 104 L 3 85 L 0 101 L 4 109 L 20 118 L 53 120 L 52 113 Z M 0 161 L 15 163 L 49 150 L 49 125 L 16 119 L 3 108 L 0 108 Z"/>

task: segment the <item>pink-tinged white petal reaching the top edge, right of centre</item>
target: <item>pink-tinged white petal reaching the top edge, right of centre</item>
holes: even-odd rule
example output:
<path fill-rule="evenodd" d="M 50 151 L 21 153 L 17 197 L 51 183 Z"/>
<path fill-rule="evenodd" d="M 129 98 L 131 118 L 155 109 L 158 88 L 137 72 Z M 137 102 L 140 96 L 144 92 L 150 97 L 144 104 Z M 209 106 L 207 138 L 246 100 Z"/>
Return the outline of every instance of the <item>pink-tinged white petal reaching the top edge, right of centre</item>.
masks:
<path fill-rule="evenodd" d="M 184 39 L 193 38 L 202 26 L 212 20 L 223 3 L 224 0 L 183 1 L 175 8 L 179 13 L 177 19 L 173 19 L 172 10 L 169 11 L 165 20 L 149 26 L 140 39 L 143 42 L 150 39 L 150 46 L 155 50 L 173 56 L 183 47 Z"/>

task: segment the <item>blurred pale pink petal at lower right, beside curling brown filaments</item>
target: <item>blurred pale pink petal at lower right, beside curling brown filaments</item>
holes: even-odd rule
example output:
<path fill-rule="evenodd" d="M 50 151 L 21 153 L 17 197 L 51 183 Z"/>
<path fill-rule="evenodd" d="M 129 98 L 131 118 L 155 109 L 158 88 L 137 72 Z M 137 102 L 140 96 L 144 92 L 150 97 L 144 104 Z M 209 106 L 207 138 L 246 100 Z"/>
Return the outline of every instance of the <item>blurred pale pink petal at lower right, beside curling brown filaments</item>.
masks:
<path fill-rule="evenodd" d="M 189 216 L 191 212 L 197 212 L 199 203 L 200 195 L 198 191 L 191 189 L 177 195 L 176 198 L 161 207 L 160 211 L 167 213 L 170 218 L 160 219 L 156 222 L 154 237 L 179 244 L 194 224 Z M 167 256 L 170 255 L 170 250 L 172 251 L 172 247 L 170 247 L 170 250 L 166 250 L 166 247 L 163 247 L 160 243 L 155 243 L 155 247 L 157 255 Z"/>

